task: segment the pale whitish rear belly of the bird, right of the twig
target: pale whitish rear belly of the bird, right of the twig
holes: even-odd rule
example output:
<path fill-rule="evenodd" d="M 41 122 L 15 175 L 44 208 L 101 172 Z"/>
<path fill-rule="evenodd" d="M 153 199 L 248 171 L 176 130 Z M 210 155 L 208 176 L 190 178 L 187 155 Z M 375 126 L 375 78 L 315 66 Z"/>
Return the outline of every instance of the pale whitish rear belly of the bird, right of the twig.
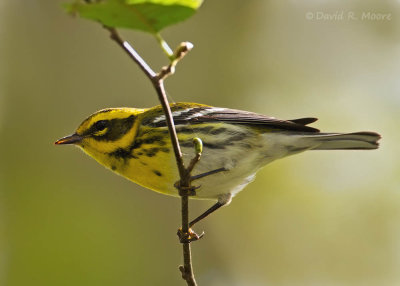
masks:
<path fill-rule="evenodd" d="M 254 180 L 256 172 L 261 167 L 276 159 L 307 150 L 308 146 L 298 146 L 298 138 L 286 134 L 265 133 L 241 142 L 242 145 L 227 146 L 225 149 L 205 147 L 192 175 L 219 168 L 225 168 L 227 171 L 194 181 L 194 186 L 200 186 L 196 190 L 196 198 L 221 199 L 226 194 L 235 196 Z M 244 148 L 243 143 L 253 147 L 248 148 L 246 145 L 247 148 Z M 298 148 L 293 146 L 298 146 Z M 187 165 L 194 156 L 194 149 L 182 148 L 182 152 Z"/>

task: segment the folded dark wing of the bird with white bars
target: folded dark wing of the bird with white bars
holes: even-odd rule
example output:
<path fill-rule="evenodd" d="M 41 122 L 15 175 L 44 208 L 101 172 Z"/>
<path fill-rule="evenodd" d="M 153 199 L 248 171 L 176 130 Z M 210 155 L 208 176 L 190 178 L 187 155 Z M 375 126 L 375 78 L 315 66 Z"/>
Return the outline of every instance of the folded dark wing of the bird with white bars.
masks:
<path fill-rule="evenodd" d="M 319 132 L 316 128 L 306 126 L 316 121 L 316 118 L 280 120 L 248 111 L 203 105 L 194 107 L 172 105 L 171 110 L 175 125 L 226 122 L 230 124 L 246 124 L 288 131 Z M 146 123 L 146 125 L 154 127 L 166 126 L 165 116 L 161 113 L 159 116 L 153 117 L 151 121 Z"/>

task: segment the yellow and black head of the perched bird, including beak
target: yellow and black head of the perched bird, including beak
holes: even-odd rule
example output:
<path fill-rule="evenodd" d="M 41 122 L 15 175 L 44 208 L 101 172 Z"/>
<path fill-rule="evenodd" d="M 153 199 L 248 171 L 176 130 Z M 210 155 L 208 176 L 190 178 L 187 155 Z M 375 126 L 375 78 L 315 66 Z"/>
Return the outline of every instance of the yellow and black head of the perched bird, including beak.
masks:
<path fill-rule="evenodd" d="M 138 116 L 143 109 L 108 108 L 86 118 L 74 134 L 63 137 L 56 145 L 74 144 L 91 156 L 111 153 L 132 143 Z"/>

